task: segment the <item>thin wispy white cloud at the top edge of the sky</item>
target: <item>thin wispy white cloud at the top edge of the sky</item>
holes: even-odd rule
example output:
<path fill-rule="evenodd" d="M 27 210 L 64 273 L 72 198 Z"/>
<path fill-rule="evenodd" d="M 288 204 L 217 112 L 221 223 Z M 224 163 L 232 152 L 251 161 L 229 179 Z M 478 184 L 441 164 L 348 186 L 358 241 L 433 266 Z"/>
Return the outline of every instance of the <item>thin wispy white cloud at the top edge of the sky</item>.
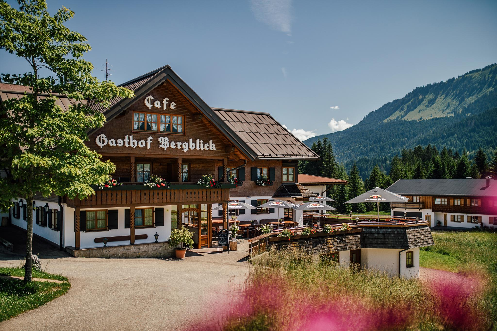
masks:
<path fill-rule="evenodd" d="M 255 17 L 271 28 L 291 35 L 292 1 L 291 0 L 251 0 Z"/>

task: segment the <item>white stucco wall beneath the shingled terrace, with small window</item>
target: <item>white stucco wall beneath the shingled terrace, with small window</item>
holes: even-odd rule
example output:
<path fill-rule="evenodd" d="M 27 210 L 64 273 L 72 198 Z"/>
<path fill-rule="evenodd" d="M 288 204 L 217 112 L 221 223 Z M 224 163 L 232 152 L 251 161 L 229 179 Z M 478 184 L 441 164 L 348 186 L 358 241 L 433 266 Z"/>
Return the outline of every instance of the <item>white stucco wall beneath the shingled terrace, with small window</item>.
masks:
<path fill-rule="evenodd" d="M 385 271 L 390 277 L 399 275 L 400 249 L 361 249 L 361 266 L 367 269 Z M 406 252 L 413 251 L 414 266 L 406 266 Z M 413 248 L 401 253 L 401 276 L 411 279 L 419 278 L 419 248 Z"/>

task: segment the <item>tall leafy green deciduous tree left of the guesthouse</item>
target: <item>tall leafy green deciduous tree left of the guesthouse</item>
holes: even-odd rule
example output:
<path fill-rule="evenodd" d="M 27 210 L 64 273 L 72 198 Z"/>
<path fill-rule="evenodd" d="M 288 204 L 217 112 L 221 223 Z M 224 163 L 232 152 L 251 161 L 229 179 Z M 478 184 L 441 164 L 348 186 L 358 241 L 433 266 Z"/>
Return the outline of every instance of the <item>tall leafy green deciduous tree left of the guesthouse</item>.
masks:
<path fill-rule="evenodd" d="M 0 1 L 0 48 L 27 61 L 25 73 L 1 74 L 6 83 L 28 86 L 20 99 L 11 98 L 0 112 L 0 207 L 13 199 L 30 207 L 40 192 L 84 197 L 91 185 L 102 183 L 115 166 L 84 144 L 89 128 L 103 126 L 105 117 L 85 105 L 88 99 L 108 107 L 117 96 L 133 92 L 91 75 L 93 66 L 82 59 L 90 50 L 86 38 L 64 23 L 74 12 L 62 7 L 55 15 L 43 0 L 18 0 L 20 9 Z M 57 104 L 57 94 L 71 100 L 68 111 Z M 42 96 L 43 97 L 40 97 Z M 26 270 L 31 280 L 33 212 L 27 213 Z"/>

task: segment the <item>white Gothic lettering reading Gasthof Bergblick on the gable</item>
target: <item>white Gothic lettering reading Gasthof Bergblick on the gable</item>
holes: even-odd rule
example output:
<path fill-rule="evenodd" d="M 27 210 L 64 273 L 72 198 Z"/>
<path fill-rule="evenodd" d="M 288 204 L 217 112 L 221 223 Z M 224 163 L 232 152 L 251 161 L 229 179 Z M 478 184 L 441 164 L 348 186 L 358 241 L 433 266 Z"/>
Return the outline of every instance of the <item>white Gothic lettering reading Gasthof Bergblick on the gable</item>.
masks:
<path fill-rule="evenodd" d="M 107 139 L 107 136 L 102 133 L 96 137 L 95 143 L 100 148 L 105 145 L 109 145 L 110 147 L 124 146 L 131 148 L 143 148 L 147 146 L 147 149 L 150 149 L 153 140 L 154 137 L 148 137 L 147 140 L 136 140 L 133 138 L 133 135 L 125 135 L 124 139 Z M 195 141 L 193 141 L 193 139 L 189 139 L 188 141 L 169 141 L 168 137 L 158 137 L 157 140 L 159 143 L 159 148 L 163 148 L 164 150 L 166 150 L 167 148 L 176 148 L 182 150 L 183 152 L 187 152 L 188 150 L 193 149 L 216 150 L 216 144 L 213 143 L 212 140 L 209 140 L 209 142 L 206 143 L 204 143 L 204 141 L 200 139 L 196 139 Z"/>

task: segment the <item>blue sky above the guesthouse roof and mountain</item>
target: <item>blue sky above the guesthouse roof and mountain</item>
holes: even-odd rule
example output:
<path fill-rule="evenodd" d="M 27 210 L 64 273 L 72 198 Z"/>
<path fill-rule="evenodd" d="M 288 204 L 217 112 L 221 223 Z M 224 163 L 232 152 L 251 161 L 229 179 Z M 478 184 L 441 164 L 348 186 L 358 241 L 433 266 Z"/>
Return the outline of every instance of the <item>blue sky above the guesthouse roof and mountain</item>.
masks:
<path fill-rule="evenodd" d="M 14 1 L 8 1 L 16 5 Z M 497 59 L 497 1 L 49 1 L 122 83 L 170 65 L 211 107 L 269 112 L 303 139 Z M 26 70 L 0 53 L 0 71 Z"/>

